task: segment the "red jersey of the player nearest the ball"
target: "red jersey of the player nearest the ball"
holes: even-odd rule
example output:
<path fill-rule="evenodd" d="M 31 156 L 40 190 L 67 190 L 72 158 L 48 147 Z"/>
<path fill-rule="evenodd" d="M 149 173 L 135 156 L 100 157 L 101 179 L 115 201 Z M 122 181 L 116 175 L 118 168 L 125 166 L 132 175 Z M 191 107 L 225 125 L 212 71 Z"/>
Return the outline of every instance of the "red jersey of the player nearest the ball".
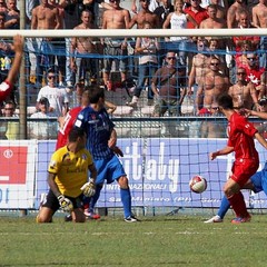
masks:
<path fill-rule="evenodd" d="M 259 161 L 258 152 L 255 148 L 254 136 L 258 131 L 246 118 L 234 112 L 228 122 L 228 146 L 234 147 L 237 161 L 244 159 Z"/>

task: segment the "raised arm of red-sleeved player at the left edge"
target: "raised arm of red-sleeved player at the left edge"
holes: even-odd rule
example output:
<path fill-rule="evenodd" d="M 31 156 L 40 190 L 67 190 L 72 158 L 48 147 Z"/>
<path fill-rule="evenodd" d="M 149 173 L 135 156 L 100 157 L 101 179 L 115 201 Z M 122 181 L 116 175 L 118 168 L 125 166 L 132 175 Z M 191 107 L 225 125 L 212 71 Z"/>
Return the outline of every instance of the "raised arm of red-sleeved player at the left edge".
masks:
<path fill-rule="evenodd" d="M 21 36 L 17 34 L 13 37 L 14 59 L 12 67 L 8 72 L 7 79 L 0 85 L 0 102 L 4 101 L 12 91 L 23 56 L 23 44 L 24 41 Z"/>

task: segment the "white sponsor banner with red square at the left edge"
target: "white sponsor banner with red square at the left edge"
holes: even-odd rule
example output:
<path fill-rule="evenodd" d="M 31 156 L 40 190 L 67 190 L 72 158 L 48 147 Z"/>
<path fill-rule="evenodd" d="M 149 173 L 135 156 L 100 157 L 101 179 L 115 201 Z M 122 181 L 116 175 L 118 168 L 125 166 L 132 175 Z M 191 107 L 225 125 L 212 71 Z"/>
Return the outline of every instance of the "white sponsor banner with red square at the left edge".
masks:
<path fill-rule="evenodd" d="M 0 141 L 1 209 L 33 208 L 36 150 L 36 140 Z"/>

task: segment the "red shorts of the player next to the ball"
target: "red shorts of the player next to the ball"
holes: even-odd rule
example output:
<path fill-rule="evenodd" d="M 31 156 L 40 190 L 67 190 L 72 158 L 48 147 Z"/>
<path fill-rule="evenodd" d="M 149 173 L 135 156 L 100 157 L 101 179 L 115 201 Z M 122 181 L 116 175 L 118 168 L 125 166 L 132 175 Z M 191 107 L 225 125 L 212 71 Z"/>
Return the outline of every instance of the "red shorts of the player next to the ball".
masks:
<path fill-rule="evenodd" d="M 259 167 L 258 160 L 243 159 L 235 161 L 231 167 L 233 175 L 230 178 L 243 187 L 248 179 L 257 171 Z"/>

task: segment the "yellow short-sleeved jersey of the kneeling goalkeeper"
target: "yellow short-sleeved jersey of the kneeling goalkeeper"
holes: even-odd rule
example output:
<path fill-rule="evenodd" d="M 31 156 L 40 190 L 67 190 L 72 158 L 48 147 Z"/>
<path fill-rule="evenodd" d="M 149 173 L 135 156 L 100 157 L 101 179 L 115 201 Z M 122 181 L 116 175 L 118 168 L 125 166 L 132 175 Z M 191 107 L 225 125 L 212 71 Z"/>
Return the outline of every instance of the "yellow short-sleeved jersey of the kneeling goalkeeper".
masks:
<path fill-rule="evenodd" d="M 53 152 L 48 171 L 56 175 L 55 181 L 62 195 L 76 198 L 81 194 L 81 186 L 88 180 L 90 165 L 92 157 L 88 150 L 81 149 L 73 154 L 65 146 Z"/>

